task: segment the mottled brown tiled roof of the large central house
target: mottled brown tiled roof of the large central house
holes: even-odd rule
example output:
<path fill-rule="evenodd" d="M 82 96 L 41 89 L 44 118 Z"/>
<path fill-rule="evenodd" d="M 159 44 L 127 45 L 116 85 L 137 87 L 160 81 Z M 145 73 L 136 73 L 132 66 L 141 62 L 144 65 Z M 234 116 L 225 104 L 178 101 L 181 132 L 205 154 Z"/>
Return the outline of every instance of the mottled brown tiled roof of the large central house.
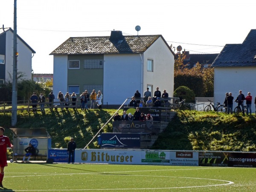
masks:
<path fill-rule="evenodd" d="M 110 40 L 110 36 L 71 37 L 50 55 L 143 53 L 160 37 L 163 38 L 162 35 L 122 36 L 116 40 Z"/>

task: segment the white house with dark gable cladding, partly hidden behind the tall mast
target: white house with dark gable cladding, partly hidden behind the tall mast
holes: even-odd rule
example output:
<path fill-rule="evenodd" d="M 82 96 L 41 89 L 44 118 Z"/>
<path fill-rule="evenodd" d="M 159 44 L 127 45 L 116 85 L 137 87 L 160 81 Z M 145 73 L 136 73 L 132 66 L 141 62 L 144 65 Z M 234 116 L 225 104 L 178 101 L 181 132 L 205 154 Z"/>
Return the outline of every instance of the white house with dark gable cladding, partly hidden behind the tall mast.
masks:
<path fill-rule="evenodd" d="M 32 78 L 32 55 L 35 51 L 17 35 L 17 72 L 23 73 L 24 79 Z M 13 73 L 13 30 L 0 28 L 0 82 L 12 81 Z M 11 79 L 10 79 L 11 78 Z"/>

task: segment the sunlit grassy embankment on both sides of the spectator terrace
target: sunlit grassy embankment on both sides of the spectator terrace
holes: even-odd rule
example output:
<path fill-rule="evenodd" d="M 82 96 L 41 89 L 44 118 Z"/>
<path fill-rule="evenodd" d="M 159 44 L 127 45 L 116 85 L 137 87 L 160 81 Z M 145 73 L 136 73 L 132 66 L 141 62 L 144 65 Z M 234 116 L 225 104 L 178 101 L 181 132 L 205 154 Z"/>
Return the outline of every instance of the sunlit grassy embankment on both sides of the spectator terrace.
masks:
<path fill-rule="evenodd" d="M 84 148 L 116 110 L 104 109 L 53 111 L 33 114 L 18 111 L 17 128 L 46 128 L 52 137 L 52 148 L 67 148 L 74 137 L 77 148 Z M 122 113 L 122 111 L 120 111 Z M 0 113 L 0 126 L 10 128 L 11 113 Z M 103 129 L 112 132 L 112 120 Z M 12 139 L 12 133 L 5 134 Z M 97 139 L 89 148 L 98 148 Z M 151 149 L 256 151 L 255 116 L 234 116 L 215 112 L 178 111 Z"/>

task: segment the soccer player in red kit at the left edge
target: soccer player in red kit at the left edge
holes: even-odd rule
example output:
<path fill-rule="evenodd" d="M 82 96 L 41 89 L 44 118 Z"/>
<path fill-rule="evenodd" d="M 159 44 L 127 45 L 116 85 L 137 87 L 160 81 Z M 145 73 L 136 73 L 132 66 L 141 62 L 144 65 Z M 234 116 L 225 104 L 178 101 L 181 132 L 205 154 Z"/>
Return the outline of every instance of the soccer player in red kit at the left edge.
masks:
<path fill-rule="evenodd" d="M 7 166 L 7 145 L 13 148 L 12 143 L 7 136 L 3 135 L 4 128 L 0 127 L 0 187 L 3 187 L 3 175 L 4 175 L 4 167 Z"/>

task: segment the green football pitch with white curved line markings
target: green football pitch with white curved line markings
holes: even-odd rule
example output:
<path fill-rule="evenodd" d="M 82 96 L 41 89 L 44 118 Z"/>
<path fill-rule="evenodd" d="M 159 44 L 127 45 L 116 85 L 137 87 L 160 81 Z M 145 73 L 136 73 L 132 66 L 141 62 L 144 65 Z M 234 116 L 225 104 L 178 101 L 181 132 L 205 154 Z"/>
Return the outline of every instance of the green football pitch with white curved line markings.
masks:
<path fill-rule="evenodd" d="M 255 168 L 8 163 L 0 191 L 256 191 Z"/>

